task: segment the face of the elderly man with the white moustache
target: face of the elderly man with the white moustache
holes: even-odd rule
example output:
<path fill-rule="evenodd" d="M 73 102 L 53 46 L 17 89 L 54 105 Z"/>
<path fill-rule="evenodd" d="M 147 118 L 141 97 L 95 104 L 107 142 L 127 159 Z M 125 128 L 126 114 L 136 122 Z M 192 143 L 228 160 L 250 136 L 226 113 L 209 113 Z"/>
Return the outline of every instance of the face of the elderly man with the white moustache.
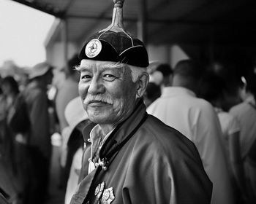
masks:
<path fill-rule="evenodd" d="M 117 125 L 135 107 L 136 84 L 129 68 L 115 63 L 82 60 L 79 94 L 89 119 L 99 125 Z"/>

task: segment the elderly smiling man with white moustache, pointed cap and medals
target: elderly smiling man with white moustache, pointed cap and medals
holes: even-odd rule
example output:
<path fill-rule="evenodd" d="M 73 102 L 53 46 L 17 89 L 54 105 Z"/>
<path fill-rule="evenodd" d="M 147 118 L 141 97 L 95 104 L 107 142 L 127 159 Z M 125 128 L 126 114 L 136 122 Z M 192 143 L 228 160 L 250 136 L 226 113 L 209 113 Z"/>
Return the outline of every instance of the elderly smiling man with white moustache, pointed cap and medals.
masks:
<path fill-rule="evenodd" d="M 210 203 L 195 145 L 146 113 L 148 54 L 118 27 L 120 13 L 115 4 L 113 24 L 80 52 L 79 93 L 97 125 L 71 203 Z"/>

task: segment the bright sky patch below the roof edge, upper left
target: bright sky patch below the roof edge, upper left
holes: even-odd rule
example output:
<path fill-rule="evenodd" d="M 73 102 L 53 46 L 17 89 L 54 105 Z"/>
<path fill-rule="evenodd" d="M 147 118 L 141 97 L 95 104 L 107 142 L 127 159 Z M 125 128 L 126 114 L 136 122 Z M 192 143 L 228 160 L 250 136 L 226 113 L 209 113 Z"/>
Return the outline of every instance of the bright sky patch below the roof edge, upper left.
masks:
<path fill-rule="evenodd" d="M 0 0 L 0 66 L 34 66 L 45 60 L 43 45 L 55 17 L 12 0 Z"/>

